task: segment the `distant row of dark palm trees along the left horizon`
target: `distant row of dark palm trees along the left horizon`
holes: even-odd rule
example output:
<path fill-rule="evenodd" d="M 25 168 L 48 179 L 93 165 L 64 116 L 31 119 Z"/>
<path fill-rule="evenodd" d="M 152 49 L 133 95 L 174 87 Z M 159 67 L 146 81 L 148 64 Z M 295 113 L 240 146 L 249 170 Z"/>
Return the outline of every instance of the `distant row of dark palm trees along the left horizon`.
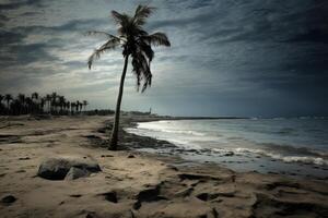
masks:
<path fill-rule="evenodd" d="M 33 93 L 31 96 L 19 94 L 13 97 L 11 94 L 0 94 L 0 114 L 20 116 L 20 114 L 79 114 L 85 111 L 89 102 L 86 100 L 69 101 L 65 96 L 57 93 L 40 96 Z"/>

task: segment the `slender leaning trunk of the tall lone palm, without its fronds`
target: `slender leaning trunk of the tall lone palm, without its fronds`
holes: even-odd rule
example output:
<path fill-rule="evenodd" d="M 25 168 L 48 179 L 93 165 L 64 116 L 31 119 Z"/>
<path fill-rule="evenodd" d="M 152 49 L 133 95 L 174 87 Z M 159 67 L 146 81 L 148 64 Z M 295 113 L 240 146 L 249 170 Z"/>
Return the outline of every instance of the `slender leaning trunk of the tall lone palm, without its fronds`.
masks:
<path fill-rule="evenodd" d="M 128 69 L 128 62 L 129 62 L 129 56 L 126 56 L 125 66 L 124 66 L 121 77 L 120 77 L 119 92 L 118 92 L 118 97 L 117 97 L 117 102 L 116 102 L 116 110 L 115 110 L 115 118 L 114 118 L 114 126 L 112 130 L 110 144 L 109 144 L 109 148 L 108 148 L 108 149 L 113 149 L 113 150 L 117 149 L 120 102 L 121 102 L 121 97 L 122 97 L 122 92 L 124 92 L 126 73 L 127 73 L 127 69 Z"/>

